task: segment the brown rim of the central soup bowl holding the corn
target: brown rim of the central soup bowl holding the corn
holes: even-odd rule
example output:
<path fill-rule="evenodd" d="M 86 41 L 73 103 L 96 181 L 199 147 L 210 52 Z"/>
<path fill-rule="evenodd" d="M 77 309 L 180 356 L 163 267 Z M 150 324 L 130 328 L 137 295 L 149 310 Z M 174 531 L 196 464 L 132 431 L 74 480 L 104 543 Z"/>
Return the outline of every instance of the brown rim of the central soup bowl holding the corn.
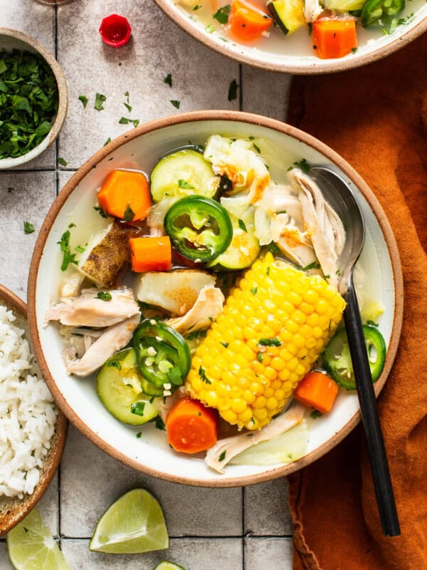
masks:
<path fill-rule="evenodd" d="M 97 435 L 93 430 L 83 423 L 75 411 L 68 405 L 68 402 L 63 398 L 63 395 L 58 390 L 55 380 L 51 376 L 49 368 L 47 366 L 46 360 L 43 356 L 43 350 L 41 348 L 41 341 L 38 336 L 38 327 L 36 319 L 36 288 L 37 288 L 37 277 L 38 268 L 43 254 L 43 249 L 48 239 L 48 235 L 51 231 L 53 222 L 55 222 L 60 209 L 63 204 L 68 199 L 70 194 L 73 192 L 75 187 L 80 184 L 83 178 L 96 167 L 97 163 L 102 159 L 110 155 L 114 150 L 125 145 L 126 142 L 138 138 L 141 135 L 146 135 L 154 130 L 159 130 L 162 128 L 167 128 L 174 125 L 179 125 L 181 123 L 194 123 L 199 121 L 230 121 L 238 123 L 247 123 L 248 125 L 260 125 L 265 128 L 270 128 L 284 135 L 290 135 L 292 138 L 300 140 L 305 144 L 313 147 L 318 152 L 321 152 L 328 160 L 330 160 L 334 165 L 337 165 L 344 174 L 349 177 L 354 185 L 356 185 L 359 190 L 364 195 L 365 199 L 369 203 L 369 206 L 373 210 L 375 217 L 381 227 L 381 231 L 384 234 L 384 239 L 386 242 L 386 247 L 389 251 L 389 257 L 391 260 L 391 268 L 393 272 L 394 279 L 394 297 L 395 297 L 395 310 L 393 318 L 393 326 L 391 329 L 391 338 L 389 343 L 389 348 L 387 351 L 386 364 L 381 376 L 375 383 L 375 393 L 376 396 L 380 393 L 386 382 L 386 378 L 389 375 L 391 366 L 394 362 L 396 356 L 397 348 L 399 345 L 399 338 L 401 334 L 401 326 L 403 320 L 403 299 L 404 299 L 404 282 L 401 270 L 401 262 L 399 257 L 399 250 L 397 248 L 396 239 L 391 230 L 386 214 L 379 204 L 378 199 L 376 199 L 374 193 L 370 190 L 367 183 L 364 182 L 362 177 L 357 174 L 357 172 L 349 165 L 349 163 L 344 160 L 341 156 L 337 154 L 330 147 L 325 145 L 312 135 L 308 135 L 300 129 L 282 123 L 278 120 L 263 117 L 261 115 L 254 115 L 252 113 L 243 113 L 241 111 L 229 111 L 229 110 L 204 110 L 204 111 L 193 111 L 190 113 L 181 113 L 178 115 L 170 115 L 169 117 L 159 118 L 152 120 L 149 123 L 144 123 L 139 125 L 139 127 L 128 131 L 127 133 L 120 135 L 119 137 L 112 140 L 107 146 L 102 147 L 98 150 L 95 155 L 90 157 L 80 169 L 75 172 L 73 177 L 65 184 L 63 190 L 60 191 L 55 202 L 53 202 L 51 209 L 49 210 L 45 221 L 41 227 L 38 234 L 38 239 L 36 241 L 36 246 L 34 248 L 33 257 L 31 259 L 30 272 L 28 274 L 28 324 L 30 328 L 31 341 L 33 343 L 33 351 L 36 354 L 38 364 L 41 368 L 44 378 L 46 378 L 46 383 L 49 389 L 53 393 L 53 397 L 56 400 L 58 406 L 63 410 L 63 413 L 68 417 L 71 423 L 80 430 L 80 432 L 88 437 L 97 447 L 105 451 L 111 457 L 122 462 L 125 465 L 132 467 L 133 469 L 144 472 L 147 475 L 152 475 L 152 477 L 158 477 L 163 480 L 178 482 L 183 484 L 189 484 L 194 487 L 240 487 L 249 484 L 260 483 L 268 480 L 273 480 L 278 477 L 283 477 L 283 475 L 289 475 L 291 472 L 300 470 L 302 467 L 309 465 L 311 462 L 317 460 L 318 458 L 325 455 L 326 452 L 335 447 L 339 442 L 341 442 L 344 437 L 346 437 L 349 432 L 359 423 L 360 413 L 357 412 L 349 419 L 346 425 L 337 432 L 335 435 L 330 437 L 327 442 L 317 447 L 309 454 L 300 458 L 299 460 L 292 462 L 290 464 L 282 465 L 276 467 L 275 469 L 265 470 L 264 472 L 255 475 L 246 475 L 242 477 L 223 477 L 221 479 L 206 479 L 206 480 L 189 480 L 186 477 L 181 477 L 179 475 L 170 475 L 161 471 L 154 470 L 150 467 L 141 465 L 139 462 L 132 460 L 132 458 L 127 457 L 122 454 L 119 450 L 113 448 L 110 444 L 102 440 L 102 438 Z"/>

